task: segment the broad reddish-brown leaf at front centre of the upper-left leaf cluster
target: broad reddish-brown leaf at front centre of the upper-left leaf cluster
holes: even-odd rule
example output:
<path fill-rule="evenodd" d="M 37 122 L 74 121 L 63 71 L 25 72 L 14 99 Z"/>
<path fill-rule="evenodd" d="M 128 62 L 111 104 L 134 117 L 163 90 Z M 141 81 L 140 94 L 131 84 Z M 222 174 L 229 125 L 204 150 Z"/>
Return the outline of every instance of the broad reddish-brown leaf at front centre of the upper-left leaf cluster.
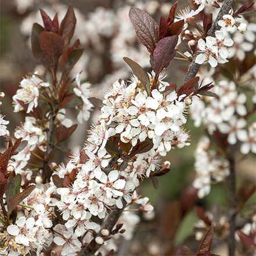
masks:
<path fill-rule="evenodd" d="M 39 42 L 42 51 L 44 51 L 46 58 L 49 62 L 55 65 L 62 53 L 64 46 L 64 38 L 53 32 L 43 31 L 39 35 Z"/>

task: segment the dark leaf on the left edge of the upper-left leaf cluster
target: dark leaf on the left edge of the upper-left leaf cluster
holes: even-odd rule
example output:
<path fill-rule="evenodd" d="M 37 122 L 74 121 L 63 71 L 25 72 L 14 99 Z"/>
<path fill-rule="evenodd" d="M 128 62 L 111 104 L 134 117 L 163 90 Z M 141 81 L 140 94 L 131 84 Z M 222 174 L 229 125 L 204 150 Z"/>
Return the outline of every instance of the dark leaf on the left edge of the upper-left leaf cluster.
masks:
<path fill-rule="evenodd" d="M 34 23 L 31 33 L 31 48 L 32 53 L 35 59 L 42 64 L 46 69 L 52 70 L 52 63 L 46 58 L 45 52 L 42 51 L 39 41 L 39 34 L 41 34 L 44 30 L 42 26 L 37 23 Z"/>

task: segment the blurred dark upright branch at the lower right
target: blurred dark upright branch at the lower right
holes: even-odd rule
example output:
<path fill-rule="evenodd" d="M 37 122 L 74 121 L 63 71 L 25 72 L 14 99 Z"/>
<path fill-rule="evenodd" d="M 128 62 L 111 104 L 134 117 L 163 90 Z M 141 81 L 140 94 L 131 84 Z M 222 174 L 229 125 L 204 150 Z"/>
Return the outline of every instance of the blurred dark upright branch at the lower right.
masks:
<path fill-rule="evenodd" d="M 235 172 L 235 149 L 231 147 L 231 154 L 229 157 L 229 237 L 228 237 L 228 248 L 229 255 L 235 255 L 236 250 L 236 214 L 237 214 L 237 199 L 236 199 L 236 172 Z"/>

